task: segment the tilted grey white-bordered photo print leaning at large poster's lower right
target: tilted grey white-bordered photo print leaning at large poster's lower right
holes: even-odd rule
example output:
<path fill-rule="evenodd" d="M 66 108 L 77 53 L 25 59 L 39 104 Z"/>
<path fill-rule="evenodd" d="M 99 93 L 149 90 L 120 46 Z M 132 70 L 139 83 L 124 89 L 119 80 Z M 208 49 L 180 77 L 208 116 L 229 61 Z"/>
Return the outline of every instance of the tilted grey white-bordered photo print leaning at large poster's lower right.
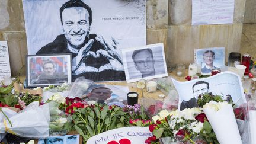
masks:
<path fill-rule="evenodd" d="M 151 44 L 122 50 L 127 82 L 168 76 L 164 44 Z"/>

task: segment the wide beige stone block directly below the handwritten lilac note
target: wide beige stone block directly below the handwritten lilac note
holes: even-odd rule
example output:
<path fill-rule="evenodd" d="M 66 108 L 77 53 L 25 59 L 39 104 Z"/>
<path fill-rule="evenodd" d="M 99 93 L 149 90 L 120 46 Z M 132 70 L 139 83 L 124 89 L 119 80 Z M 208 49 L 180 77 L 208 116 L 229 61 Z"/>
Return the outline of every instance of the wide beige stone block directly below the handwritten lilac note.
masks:
<path fill-rule="evenodd" d="M 225 61 L 231 52 L 239 52 L 242 24 L 169 25 L 167 65 L 188 66 L 194 62 L 194 49 L 225 47 Z"/>

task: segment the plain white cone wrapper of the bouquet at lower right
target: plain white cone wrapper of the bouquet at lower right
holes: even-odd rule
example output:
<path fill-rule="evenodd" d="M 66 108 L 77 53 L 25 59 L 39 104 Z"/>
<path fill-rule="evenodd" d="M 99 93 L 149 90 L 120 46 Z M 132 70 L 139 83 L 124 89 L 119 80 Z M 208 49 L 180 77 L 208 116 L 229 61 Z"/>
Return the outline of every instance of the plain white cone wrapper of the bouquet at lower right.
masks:
<path fill-rule="evenodd" d="M 226 101 L 210 101 L 203 106 L 203 111 L 217 136 L 217 140 L 222 144 L 241 143 L 238 125 L 231 104 Z"/>

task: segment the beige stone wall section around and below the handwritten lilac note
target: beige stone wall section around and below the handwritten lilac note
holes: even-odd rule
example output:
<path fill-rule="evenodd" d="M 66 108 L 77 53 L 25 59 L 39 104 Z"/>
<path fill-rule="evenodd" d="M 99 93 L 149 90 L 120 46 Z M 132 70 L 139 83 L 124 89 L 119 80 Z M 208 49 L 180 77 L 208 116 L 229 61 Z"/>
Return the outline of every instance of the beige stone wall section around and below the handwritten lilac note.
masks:
<path fill-rule="evenodd" d="M 191 0 L 169 0 L 167 64 L 188 66 L 194 61 L 194 49 L 225 47 L 225 60 L 230 52 L 239 52 L 244 20 L 245 0 L 235 0 L 233 24 L 191 25 Z"/>

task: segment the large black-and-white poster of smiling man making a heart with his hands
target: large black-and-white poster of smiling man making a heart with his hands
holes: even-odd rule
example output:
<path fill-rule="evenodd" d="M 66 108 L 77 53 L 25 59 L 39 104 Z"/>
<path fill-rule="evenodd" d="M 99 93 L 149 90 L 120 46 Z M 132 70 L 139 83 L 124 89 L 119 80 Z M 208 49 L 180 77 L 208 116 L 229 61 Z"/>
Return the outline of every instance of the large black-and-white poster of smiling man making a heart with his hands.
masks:
<path fill-rule="evenodd" d="M 125 80 L 121 49 L 146 44 L 146 0 L 23 0 L 29 55 L 72 53 L 73 81 Z"/>

